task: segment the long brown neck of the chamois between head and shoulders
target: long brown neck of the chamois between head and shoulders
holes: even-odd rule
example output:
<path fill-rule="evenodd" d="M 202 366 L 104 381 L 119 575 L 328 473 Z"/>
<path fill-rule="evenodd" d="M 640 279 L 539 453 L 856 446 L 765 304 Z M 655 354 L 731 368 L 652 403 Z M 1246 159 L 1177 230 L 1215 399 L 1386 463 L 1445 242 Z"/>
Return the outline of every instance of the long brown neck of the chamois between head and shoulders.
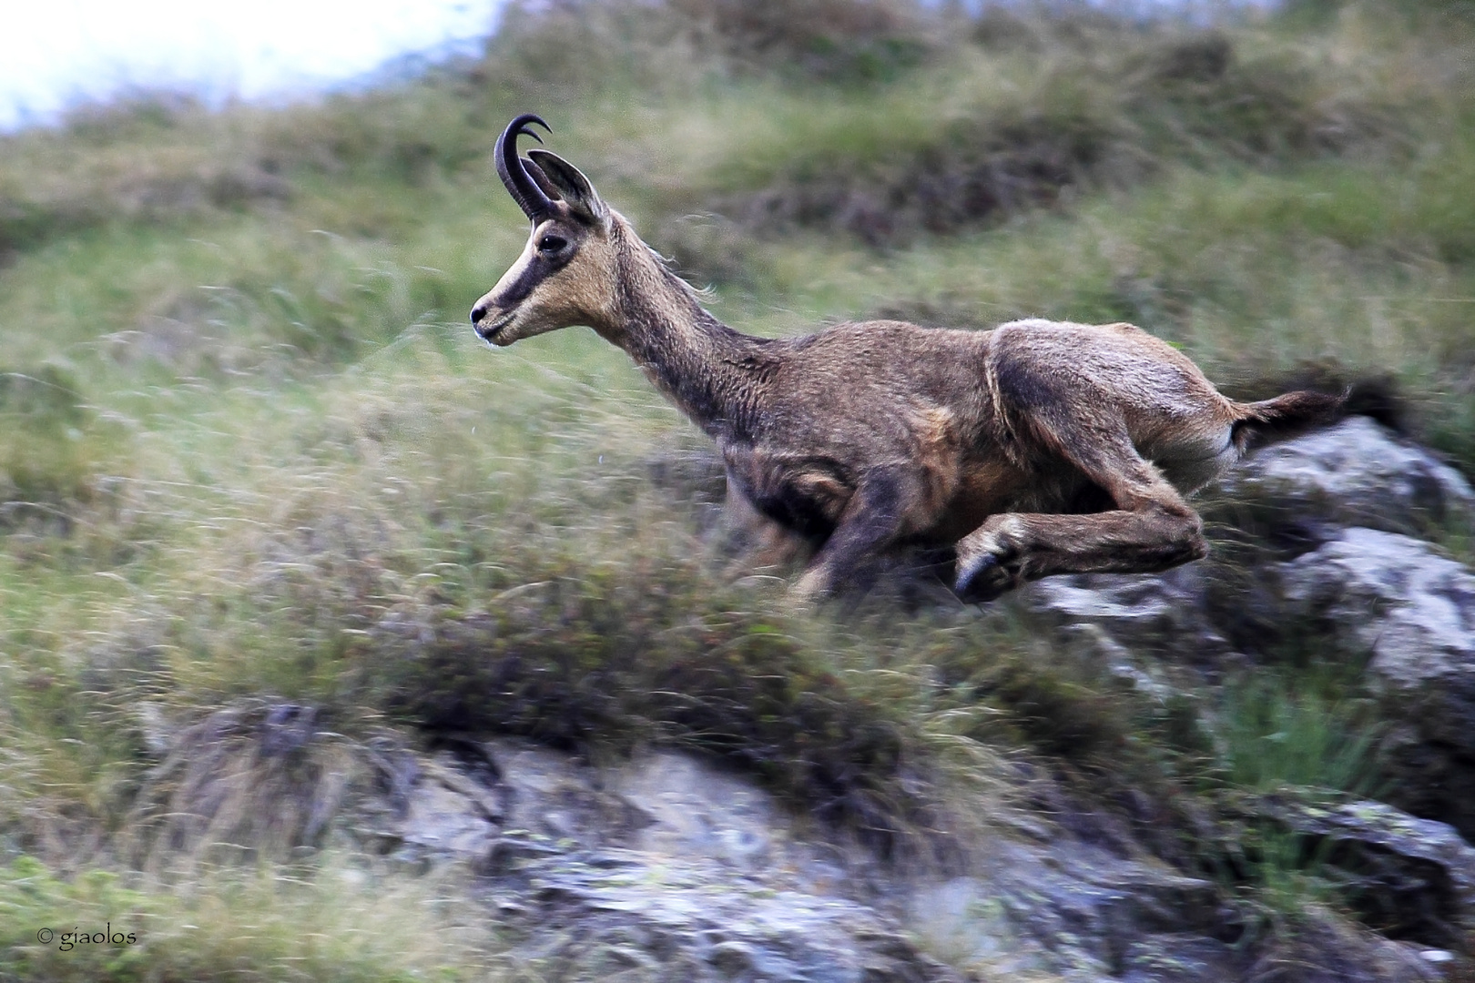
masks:
<path fill-rule="evenodd" d="M 633 233 L 630 233 L 631 237 Z M 620 251 L 621 283 L 611 342 L 625 349 L 671 402 L 714 438 L 751 433 L 771 342 L 732 330 L 636 239 Z"/>

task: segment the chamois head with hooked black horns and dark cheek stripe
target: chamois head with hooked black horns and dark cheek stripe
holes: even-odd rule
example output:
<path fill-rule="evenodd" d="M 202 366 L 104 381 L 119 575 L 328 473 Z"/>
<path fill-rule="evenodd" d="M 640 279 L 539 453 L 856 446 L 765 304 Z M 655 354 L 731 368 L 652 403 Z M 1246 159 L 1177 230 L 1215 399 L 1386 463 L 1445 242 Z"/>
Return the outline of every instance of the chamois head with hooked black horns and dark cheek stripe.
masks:
<path fill-rule="evenodd" d="M 493 345 L 612 321 L 615 218 L 589 178 L 563 158 L 541 149 L 518 156 L 518 137 L 541 143 L 530 124 L 552 133 L 538 116 L 524 113 L 497 137 L 497 174 L 532 220 L 532 234 L 512 268 L 472 308 L 476 333 Z"/>

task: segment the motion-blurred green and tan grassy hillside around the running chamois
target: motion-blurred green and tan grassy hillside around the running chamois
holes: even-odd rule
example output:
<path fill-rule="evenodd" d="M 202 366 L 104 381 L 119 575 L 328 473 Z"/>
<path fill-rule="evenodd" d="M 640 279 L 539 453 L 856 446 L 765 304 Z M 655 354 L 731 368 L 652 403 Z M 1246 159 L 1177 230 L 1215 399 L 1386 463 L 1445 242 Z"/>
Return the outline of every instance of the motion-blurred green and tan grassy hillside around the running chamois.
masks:
<path fill-rule="evenodd" d="M 1112 691 L 1007 604 L 791 615 L 780 582 L 724 569 L 705 444 L 621 352 L 584 329 L 487 351 L 466 311 L 527 234 L 491 144 L 537 111 L 743 330 L 1131 320 L 1236 395 L 1363 383 L 1475 475 L 1472 7 L 774 9 L 513 7 L 482 59 L 413 83 L 282 111 L 143 100 L 0 140 L 0 931 L 19 933 L 0 952 L 37 912 L 119 903 L 208 936 L 158 936 L 164 976 L 22 952 L 0 977 L 322 958 L 263 914 L 271 892 L 386 917 L 326 875 L 209 911 L 187 883 L 53 875 L 119 867 L 149 719 L 242 697 L 344 732 L 704 747 L 898 853 L 1003 756 L 1167 800 L 1366 787 L 1360 694 L 1305 660 L 1199 713 Z M 1289 730 L 1305 755 L 1245 750 Z M 1273 906 L 1314 874 L 1238 877 Z M 277 927 L 236 952 L 221 926 L 248 915 Z M 496 962 L 361 955 L 324 979 Z"/>

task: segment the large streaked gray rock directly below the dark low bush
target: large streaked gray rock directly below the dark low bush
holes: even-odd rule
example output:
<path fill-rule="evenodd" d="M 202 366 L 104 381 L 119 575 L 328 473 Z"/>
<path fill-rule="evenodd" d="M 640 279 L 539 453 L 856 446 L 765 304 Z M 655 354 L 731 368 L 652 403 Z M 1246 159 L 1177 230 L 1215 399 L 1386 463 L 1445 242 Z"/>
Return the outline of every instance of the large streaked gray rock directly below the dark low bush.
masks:
<path fill-rule="evenodd" d="M 384 787 L 401 788 L 391 803 L 363 803 L 375 816 L 360 824 L 366 840 L 388 844 L 401 867 L 462 862 L 487 875 L 524 936 L 513 958 L 537 971 L 959 980 L 894 918 L 847 896 L 863 887 L 853 864 L 795 837 L 767 793 L 712 765 L 652 753 L 591 768 L 507 740 L 478 747 L 494 763 L 478 778 L 448 755 L 416 755 L 407 769 L 406 753 L 381 755 Z"/>

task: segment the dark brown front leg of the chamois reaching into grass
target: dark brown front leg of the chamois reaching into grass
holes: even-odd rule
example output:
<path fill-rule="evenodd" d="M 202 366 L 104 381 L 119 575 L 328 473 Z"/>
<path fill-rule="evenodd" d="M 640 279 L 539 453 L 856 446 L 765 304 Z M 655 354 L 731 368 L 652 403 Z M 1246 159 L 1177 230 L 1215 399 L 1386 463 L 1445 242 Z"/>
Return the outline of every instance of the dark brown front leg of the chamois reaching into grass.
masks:
<path fill-rule="evenodd" d="M 804 604 L 841 587 L 869 587 L 876 554 L 914 525 L 909 523 L 909 513 L 917 497 L 917 482 L 904 473 L 894 469 L 869 472 L 791 597 Z"/>

